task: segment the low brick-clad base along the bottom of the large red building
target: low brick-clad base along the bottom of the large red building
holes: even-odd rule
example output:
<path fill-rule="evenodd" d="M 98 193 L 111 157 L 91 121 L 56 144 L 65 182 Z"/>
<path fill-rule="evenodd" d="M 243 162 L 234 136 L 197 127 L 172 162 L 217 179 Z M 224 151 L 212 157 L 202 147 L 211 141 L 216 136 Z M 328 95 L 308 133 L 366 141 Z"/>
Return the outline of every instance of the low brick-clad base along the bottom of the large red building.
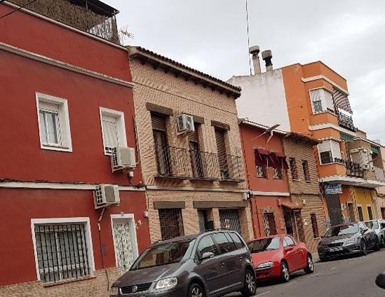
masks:
<path fill-rule="evenodd" d="M 108 286 L 120 276 L 118 269 L 96 271 L 94 277 L 83 281 L 71 281 L 55 286 L 44 286 L 41 281 L 18 283 L 0 287 L 0 297 L 108 297 Z"/>

